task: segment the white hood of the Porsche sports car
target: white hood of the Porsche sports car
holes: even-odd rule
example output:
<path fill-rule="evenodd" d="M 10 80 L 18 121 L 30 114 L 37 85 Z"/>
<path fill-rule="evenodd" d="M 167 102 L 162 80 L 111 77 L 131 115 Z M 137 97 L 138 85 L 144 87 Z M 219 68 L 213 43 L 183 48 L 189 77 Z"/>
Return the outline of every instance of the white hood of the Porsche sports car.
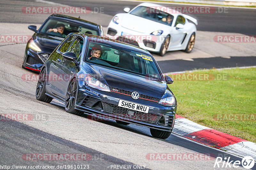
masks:
<path fill-rule="evenodd" d="M 124 28 L 146 34 L 150 34 L 156 30 L 170 29 L 170 26 L 168 25 L 157 23 L 132 14 L 120 15 L 120 24 Z"/>

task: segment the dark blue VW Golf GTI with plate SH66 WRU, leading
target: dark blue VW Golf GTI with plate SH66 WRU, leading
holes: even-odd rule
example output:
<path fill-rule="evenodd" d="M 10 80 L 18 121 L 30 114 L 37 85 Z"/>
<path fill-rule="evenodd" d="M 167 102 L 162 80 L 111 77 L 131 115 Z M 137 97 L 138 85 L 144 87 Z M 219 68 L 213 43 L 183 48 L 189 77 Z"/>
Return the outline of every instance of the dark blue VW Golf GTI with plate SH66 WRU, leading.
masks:
<path fill-rule="evenodd" d="M 36 99 L 65 103 L 75 115 L 96 115 L 150 128 L 168 138 L 177 102 L 152 55 L 124 42 L 69 34 L 42 66 Z"/>

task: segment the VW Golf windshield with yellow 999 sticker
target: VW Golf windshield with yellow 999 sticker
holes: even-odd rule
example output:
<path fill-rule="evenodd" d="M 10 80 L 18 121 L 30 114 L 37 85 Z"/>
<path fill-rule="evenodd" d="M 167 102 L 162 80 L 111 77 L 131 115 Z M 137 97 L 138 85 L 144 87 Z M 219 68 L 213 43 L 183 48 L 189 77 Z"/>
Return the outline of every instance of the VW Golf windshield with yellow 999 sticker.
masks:
<path fill-rule="evenodd" d="M 95 49 L 101 48 L 101 51 Z M 93 49 L 93 50 L 92 50 Z M 94 57 L 94 52 L 101 53 Z M 140 75 L 150 80 L 163 81 L 163 76 L 156 66 L 152 55 L 105 43 L 89 42 L 85 60 L 101 66 L 111 67 L 131 74 Z"/>

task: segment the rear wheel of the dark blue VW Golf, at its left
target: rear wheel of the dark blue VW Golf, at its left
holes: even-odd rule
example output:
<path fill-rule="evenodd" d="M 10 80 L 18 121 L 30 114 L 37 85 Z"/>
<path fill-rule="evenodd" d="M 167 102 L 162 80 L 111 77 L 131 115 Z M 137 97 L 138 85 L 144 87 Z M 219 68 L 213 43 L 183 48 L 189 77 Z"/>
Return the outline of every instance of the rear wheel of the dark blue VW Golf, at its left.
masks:
<path fill-rule="evenodd" d="M 52 102 L 52 97 L 45 94 L 45 86 L 47 80 L 46 68 L 44 68 L 39 75 L 39 79 L 36 85 L 36 99 L 42 102 L 50 103 Z"/>

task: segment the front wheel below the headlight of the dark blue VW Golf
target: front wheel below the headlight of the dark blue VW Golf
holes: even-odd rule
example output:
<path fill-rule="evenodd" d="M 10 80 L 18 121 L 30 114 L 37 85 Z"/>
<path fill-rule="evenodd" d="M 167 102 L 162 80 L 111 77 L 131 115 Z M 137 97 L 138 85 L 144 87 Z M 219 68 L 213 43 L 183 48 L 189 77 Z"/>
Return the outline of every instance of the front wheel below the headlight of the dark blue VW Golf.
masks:
<path fill-rule="evenodd" d="M 77 92 L 77 81 L 76 79 L 73 79 L 68 85 L 68 90 L 65 97 L 65 110 L 68 113 L 81 116 L 84 114 L 84 112 L 75 109 Z"/>

